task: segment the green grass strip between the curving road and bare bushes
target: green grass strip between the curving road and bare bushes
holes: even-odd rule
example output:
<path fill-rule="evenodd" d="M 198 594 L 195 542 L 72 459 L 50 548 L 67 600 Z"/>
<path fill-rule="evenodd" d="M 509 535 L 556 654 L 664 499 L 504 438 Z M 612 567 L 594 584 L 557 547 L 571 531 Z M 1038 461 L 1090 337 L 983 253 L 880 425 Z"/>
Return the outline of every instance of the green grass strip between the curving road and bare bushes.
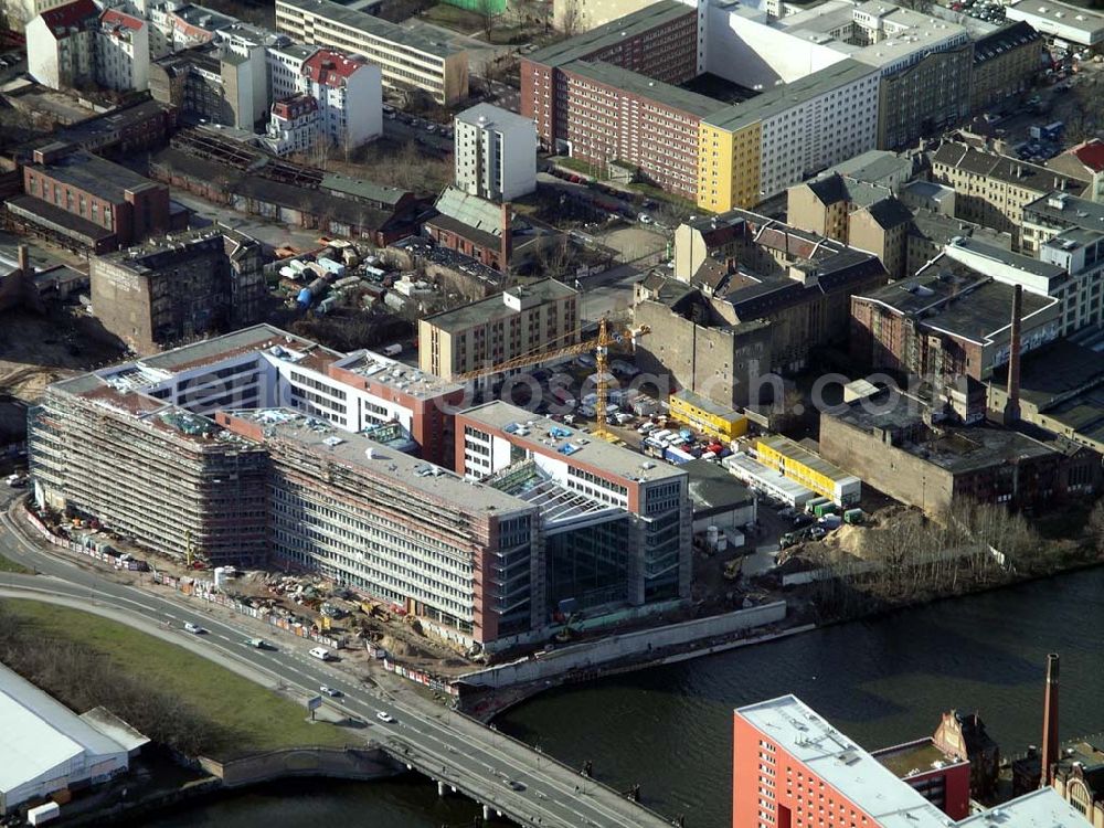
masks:
<path fill-rule="evenodd" d="M 339 728 L 304 721 L 306 708 L 220 667 L 183 647 L 124 624 L 77 609 L 34 601 L 6 601 L 6 609 L 33 624 L 43 646 L 73 640 L 110 659 L 142 682 L 174 693 L 224 725 L 206 751 L 215 758 L 305 745 L 343 746 L 353 740 Z"/>

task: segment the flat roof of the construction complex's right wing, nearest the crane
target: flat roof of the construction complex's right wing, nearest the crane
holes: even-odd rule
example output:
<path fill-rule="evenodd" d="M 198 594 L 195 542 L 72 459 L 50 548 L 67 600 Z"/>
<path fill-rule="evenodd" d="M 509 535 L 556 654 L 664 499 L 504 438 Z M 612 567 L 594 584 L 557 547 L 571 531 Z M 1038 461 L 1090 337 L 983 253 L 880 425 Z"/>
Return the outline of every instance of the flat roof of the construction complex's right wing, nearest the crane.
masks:
<path fill-rule="evenodd" d="M 651 482 L 686 477 L 686 471 L 677 466 L 657 463 L 631 448 L 614 445 L 500 400 L 468 408 L 458 416 L 503 432 L 511 442 L 537 454 L 563 455 L 565 463 L 585 463 L 629 481 Z M 519 433 L 519 427 L 528 433 Z"/>

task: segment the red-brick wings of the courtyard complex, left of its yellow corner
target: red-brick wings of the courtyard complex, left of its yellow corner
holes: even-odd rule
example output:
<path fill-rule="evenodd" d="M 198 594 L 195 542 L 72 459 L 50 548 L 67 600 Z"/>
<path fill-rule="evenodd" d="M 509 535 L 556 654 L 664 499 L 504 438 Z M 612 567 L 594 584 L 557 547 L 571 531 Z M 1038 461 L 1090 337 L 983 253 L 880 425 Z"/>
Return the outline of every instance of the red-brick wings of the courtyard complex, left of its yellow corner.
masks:
<path fill-rule="evenodd" d="M 638 167 L 693 197 L 698 125 L 724 107 L 675 85 L 698 74 L 697 11 L 660 0 L 523 57 L 521 114 L 545 150 Z"/>

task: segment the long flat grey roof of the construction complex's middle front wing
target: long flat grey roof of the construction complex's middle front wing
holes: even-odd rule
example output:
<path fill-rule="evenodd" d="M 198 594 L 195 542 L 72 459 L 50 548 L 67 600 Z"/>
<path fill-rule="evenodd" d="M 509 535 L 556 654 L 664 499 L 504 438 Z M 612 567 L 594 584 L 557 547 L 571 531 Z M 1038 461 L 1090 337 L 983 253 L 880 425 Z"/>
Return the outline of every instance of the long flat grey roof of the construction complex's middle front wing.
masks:
<path fill-rule="evenodd" d="M 266 440 L 278 438 L 299 444 L 312 454 L 344 463 L 371 477 L 394 480 L 403 488 L 413 488 L 469 514 L 508 513 L 530 508 L 524 500 L 491 486 L 466 480 L 449 469 L 294 408 L 250 408 L 227 411 L 225 414 L 261 425 Z"/>

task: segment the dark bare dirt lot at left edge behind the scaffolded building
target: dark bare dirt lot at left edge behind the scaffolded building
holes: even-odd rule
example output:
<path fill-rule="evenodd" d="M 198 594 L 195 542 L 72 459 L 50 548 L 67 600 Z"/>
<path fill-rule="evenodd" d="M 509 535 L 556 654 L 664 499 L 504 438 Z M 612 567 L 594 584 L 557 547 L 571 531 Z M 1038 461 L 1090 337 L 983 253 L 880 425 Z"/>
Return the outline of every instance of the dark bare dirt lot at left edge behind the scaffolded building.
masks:
<path fill-rule="evenodd" d="M 50 383 L 121 357 L 118 349 L 87 335 L 91 320 L 74 316 L 79 312 L 0 314 L 0 396 L 34 402 Z"/>

